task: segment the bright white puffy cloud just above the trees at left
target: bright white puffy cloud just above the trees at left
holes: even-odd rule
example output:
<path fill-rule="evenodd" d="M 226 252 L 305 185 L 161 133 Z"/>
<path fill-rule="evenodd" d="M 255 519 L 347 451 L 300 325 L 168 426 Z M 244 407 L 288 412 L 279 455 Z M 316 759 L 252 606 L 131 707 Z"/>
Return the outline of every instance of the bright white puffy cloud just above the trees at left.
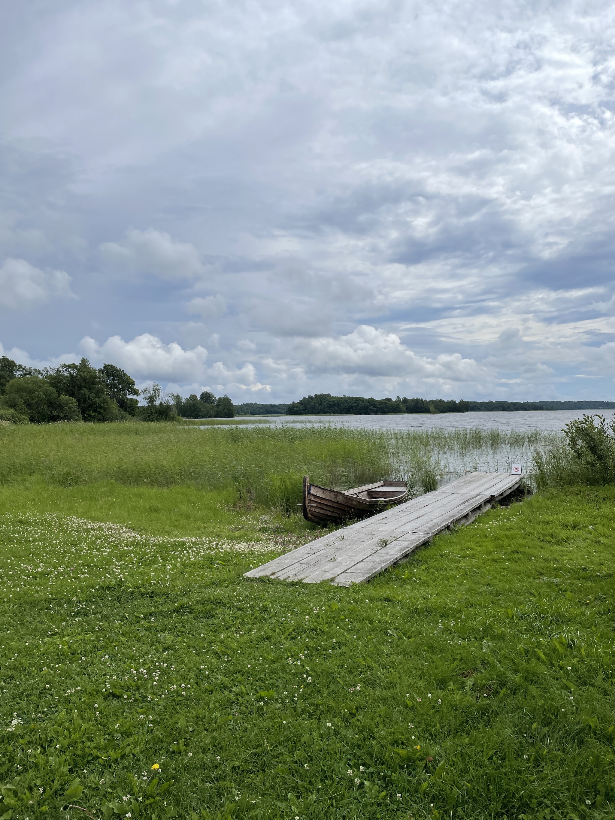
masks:
<path fill-rule="evenodd" d="M 80 344 L 93 363 L 112 362 L 138 379 L 186 382 L 202 381 L 206 375 L 207 350 L 201 345 L 185 350 L 176 342 L 164 344 L 149 333 L 130 342 L 110 336 L 104 344 L 85 336 Z"/>

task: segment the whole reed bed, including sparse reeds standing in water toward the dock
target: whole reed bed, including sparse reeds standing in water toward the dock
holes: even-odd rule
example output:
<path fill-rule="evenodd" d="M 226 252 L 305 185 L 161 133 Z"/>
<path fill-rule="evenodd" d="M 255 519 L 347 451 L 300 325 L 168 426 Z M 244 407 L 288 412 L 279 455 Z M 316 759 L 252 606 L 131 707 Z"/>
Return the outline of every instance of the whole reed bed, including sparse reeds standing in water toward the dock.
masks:
<path fill-rule="evenodd" d="M 344 490 L 380 479 L 408 481 L 415 494 L 467 471 L 506 470 L 552 452 L 558 435 L 540 430 L 373 430 L 344 426 L 55 424 L 0 430 L 0 483 L 64 487 L 192 484 L 234 488 L 246 507 L 295 512 L 303 475 Z"/>

